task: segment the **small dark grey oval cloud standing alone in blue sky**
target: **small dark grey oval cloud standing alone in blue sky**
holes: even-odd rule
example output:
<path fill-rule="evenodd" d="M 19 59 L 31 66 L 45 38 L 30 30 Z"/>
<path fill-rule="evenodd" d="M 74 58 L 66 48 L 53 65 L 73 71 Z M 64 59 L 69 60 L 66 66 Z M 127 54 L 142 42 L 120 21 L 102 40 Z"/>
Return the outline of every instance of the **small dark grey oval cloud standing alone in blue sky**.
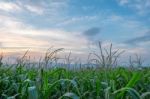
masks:
<path fill-rule="evenodd" d="M 87 37 L 93 37 L 100 33 L 99 27 L 92 27 L 86 31 L 83 32 L 83 34 Z"/>

